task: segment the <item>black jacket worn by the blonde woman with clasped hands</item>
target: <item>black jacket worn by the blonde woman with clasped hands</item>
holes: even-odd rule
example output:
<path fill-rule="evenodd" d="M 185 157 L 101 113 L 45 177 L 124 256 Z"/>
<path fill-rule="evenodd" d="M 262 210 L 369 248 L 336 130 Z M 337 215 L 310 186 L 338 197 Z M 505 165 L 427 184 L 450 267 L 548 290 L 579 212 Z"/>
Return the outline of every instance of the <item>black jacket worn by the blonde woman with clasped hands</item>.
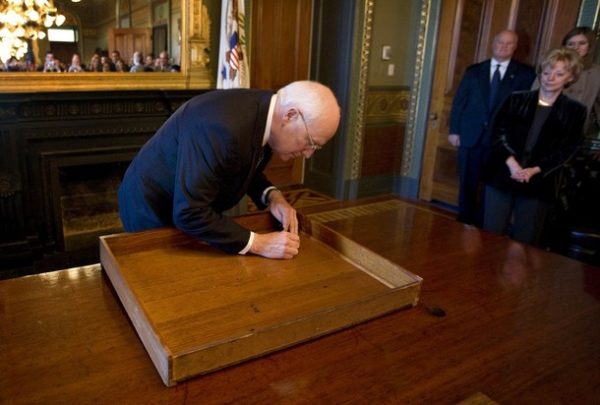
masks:
<path fill-rule="evenodd" d="M 488 165 L 488 184 L 504 191 L 551 201 L 556 195 L 556 181 L 562 165 L 574 154 L 583 139 L 586 107 L 561 94 L 542 126 L 528 161 L 524 164 L 524 149 L 533 123 L 538 91 L 513 93 L 498 110 L 493 129 L 492 157 Z M 510 178 L 506 159 L 514 156 L 525 167 L 539 166 L 541 173 L 529 183 Z"/>

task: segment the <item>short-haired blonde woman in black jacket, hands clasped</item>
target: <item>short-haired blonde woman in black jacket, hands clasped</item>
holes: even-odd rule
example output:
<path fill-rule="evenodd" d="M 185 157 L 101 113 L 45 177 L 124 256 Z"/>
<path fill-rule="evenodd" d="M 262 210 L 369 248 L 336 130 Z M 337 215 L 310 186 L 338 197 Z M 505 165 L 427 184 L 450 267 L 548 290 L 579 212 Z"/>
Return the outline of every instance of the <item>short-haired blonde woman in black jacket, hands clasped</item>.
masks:
<path fill-rule="evenodd" d="M 581 142 L 586 108 L 562 94 L 581 71 L 579 56 L 550 51 L 538 67 L 539 91 L 515 92 L 498 110 L 485 190 L 483 228 L 537 244 L 561 166 Z"/>

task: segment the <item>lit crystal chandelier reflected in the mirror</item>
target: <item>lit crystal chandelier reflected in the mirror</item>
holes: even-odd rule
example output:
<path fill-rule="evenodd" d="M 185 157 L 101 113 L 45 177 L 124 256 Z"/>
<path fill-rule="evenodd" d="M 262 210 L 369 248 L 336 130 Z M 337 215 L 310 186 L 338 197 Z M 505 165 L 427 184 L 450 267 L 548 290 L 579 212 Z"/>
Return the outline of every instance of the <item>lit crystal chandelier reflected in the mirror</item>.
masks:
<path fill-rule="evenodd" d="M 44 39 L 45 28 L 64 22 L 52 0 L 0 0 L 0 59 L 21 59 L 28 40 Z"/>

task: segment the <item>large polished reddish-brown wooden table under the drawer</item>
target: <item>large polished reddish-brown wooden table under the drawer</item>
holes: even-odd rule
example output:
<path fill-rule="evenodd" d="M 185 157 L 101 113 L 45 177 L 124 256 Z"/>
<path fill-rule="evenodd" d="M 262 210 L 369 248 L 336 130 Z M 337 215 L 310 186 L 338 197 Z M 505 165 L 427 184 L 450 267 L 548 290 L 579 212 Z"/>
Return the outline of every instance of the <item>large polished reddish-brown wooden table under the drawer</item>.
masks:
<path fill-rule="evenodd" d="M 99 265 L 5 280 L 0 402 L 597 403 L 600 269 L 400 200 L 324 210 L 423 277 L 416 308 L 167 388 Z"/>

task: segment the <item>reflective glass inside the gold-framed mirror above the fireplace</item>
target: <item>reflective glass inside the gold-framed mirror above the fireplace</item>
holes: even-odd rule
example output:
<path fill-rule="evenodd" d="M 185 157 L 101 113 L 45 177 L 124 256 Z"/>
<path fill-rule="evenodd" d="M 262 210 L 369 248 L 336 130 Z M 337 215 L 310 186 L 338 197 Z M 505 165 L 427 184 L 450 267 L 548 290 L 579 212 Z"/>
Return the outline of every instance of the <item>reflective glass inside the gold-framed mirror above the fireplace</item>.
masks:
<path fill-rule="evenodd" d="M 135 66 L 136 72 L 180 71 L 181 3 L 180 0 L 2 1 L 1 68 L 11 72 L 117 72 L 130 71 Z M 7 28 L 12 27 L 9 17 L 15 19 L 20 9 L 24 10 L 20 25 L 36 29 L 27 28 L 31 32 L 25 34 L 19 27 L 13 30 L 21 34 L 17 41 L 24 44 L 23 50 L 16 52 L 5 46 L 5 38 Z"/>

